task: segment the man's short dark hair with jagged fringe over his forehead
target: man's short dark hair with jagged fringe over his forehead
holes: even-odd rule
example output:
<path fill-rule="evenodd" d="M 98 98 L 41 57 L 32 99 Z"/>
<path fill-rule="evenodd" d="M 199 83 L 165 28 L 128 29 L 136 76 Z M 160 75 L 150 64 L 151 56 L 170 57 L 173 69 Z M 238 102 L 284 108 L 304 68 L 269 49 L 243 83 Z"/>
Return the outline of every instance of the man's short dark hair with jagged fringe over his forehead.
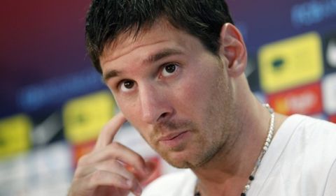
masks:
<path fill-rule="evenodd" d="M 176 29 L 199 38 L 217 54 L 223 24 L 232 22 L 225 0 L 93 0 L 87 12 L 85 40 L 94 67 L 104 47 L 125 32 L 137 34 L 165 17 Z"/>

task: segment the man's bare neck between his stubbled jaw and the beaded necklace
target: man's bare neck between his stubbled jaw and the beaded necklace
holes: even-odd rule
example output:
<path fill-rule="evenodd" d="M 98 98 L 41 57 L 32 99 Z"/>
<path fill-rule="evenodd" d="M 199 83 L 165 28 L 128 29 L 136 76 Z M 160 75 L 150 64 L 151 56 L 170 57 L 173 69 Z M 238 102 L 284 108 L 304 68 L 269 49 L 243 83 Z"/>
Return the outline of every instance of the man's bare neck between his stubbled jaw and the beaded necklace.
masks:
<path fill-rule="evenodd" d="M 202 196 L 240 195 L 248 183 L 248 176 L 264 146 L 270 121 L 269 111 L 258 100 L 249 103 L 248 107 L 240 107 L 249 110 L 238 113 L 241 121 L 235 126 L 239 133 L 235 135 L 235 140 L 223 146 L 208 163 L 193 168 L 199 179 L 197 189 Z M 283 118 L 279 120 L 283 121 Z M 280 121 L 276 123 L 276 129 Z"/>

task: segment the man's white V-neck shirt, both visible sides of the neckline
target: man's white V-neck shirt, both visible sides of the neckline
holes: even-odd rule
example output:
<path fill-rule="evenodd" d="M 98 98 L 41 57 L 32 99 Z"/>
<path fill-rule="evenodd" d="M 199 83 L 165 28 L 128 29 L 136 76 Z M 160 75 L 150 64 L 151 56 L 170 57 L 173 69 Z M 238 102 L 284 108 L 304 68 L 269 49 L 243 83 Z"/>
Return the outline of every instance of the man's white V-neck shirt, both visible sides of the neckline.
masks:
<path fill-rule="evenodd" d="M 190 170 L 161 176 L 143 196 L 193 196 Z M 262 158 L 248 196 L 336 195 L 336 125 L 308 116 L 289 116 Z"/>

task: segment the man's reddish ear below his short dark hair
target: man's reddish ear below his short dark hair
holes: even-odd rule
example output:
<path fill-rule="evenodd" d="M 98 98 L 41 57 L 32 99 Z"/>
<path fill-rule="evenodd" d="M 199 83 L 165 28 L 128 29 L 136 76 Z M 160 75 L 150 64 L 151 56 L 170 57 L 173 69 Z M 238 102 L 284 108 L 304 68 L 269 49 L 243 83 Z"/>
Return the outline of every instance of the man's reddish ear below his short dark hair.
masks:
<path fill-rule="evenodd" d="M 239 30 L 230 23 L 225 23 L 221 29 L 219 53 L 227 59 L 228 74 L 238 77 L 244 73 L 247 63 L 247 52 L 244 39 Z"/>

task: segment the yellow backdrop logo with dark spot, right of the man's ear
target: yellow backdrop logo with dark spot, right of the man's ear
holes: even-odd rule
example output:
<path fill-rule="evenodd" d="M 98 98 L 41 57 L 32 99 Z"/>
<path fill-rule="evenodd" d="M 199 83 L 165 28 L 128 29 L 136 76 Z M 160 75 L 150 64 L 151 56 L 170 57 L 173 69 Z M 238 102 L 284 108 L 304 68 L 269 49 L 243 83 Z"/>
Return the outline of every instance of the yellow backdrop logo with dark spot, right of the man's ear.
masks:
<path fill-rule="evenodd" d="M 318 81 L 323 75 L 321 38 L 305 33 L 260 48 L 260 84 L 273 93 Z"/>

